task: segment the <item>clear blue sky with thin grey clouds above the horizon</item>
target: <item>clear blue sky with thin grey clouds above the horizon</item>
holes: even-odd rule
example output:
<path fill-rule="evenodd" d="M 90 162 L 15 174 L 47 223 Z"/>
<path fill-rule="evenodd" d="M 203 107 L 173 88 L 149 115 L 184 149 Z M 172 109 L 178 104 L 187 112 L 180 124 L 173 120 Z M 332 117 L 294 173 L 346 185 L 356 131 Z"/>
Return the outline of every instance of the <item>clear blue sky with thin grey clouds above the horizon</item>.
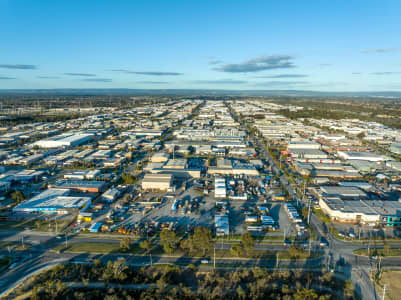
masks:
<path fill-rule="evenodd" d="M 401 1 L 0 0 L 0 89 L 401 91 Z"/>

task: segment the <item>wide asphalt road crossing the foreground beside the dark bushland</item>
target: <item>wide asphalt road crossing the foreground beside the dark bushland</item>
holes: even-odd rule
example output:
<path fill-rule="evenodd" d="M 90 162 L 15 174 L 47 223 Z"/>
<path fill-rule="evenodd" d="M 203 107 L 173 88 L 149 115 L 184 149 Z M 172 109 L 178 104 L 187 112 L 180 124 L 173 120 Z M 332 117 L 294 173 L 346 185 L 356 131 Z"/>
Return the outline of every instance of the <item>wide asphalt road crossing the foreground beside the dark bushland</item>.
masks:
<path fill-rule="evenodd" d="M 4 233 L 1 232 L 1 237 Z M 1 238 L 0 237 L 0 238 Z M 107 255 L 96 255 L 96 254 L 74 254 L 74 253 L 56 253 L 50 252 L 49 247 L 53 247 L 57 243 L 62 241 L 48 234 L 35 234 L 32 238 L 47 238 L 44 245 L 34 245 L 29 250 L 16 251 L 14 255 L 21 259 L 18 266 L 8 270 L 6 273 L 0 276 L 0 291 L 4 292 L 11 286 L 18 283 L 25 276 L 35 272 L 36 270 L 52 266 L 57 263 L 64 262 L 75 262 L 75 263 L 90 263 L 93 259 L 100 259 L 103 262 L 108 260 L 117 260 L 123 257 L 126 262 L 133 266 L 145 266 L 150 264 L 190 264 L 201 265 L 203 263 L 202 258 L 190 258 L 190 257 L 167 257 L 167 256 L 143 256 L 143 255 L 128 255 L 128 254 L 107 254 Z M 98 238 L 72 238 L 70 242 L 119 242 L 118 239 L 98 239 Z M 363 299 L 375 299 L 374 287 L 370 284 L 369 270 L 374 268 L 375 261 L 367 257 L 358 257 L 352 254 L 355 249 L 361 248 L 361 246 L 354 245 L 349 242 L 342 242 L 339 240 L 330 240 L 329 248 L 324 250 L 324 254 L 321 257 L 308 259 L 308 260 L 280 260 L 277 262 L 276 259 L 270 260 L 259 260 L 259 259 L 216 259 L 216 265 L 218 267 L 240 267 L 240 266 L 263 266 L 269 268 L 297 268 L 297 269 L 316 269 L 326 266 L 328 269 L 334 269 L 337 272 L 343 273 L 348 279 L 357 279 L 358 285 L 357 290 L 363 295 Z M 229 243 L 218 243 L 216 248 L 223 247 L 228 249 L 231 245 Z M 257 248 L 271 250 L 281 250 L 282 245 L 258 245 Z M 364 247 L 364 246 L 363 246 Z M 342 249 L 340 252 L 338 249 Z M 6 251 L 2 251 L 0 254 L 7 254 Z M 208 264 L 213 267 L 213 257 L 209 257 Z M 383 258 L 383 267 L 394 267 L 401 266 L 401 258 Z M 370 296 L 369 296 L 370 295 Z"/>

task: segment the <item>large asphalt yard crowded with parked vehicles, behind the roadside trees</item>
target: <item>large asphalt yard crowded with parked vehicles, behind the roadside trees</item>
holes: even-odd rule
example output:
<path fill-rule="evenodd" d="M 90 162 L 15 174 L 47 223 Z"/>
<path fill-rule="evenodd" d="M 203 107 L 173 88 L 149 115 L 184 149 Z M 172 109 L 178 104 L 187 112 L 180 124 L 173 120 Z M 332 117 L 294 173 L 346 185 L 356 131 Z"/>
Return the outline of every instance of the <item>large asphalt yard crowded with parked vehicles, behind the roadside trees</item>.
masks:
<path fill-rule="evenodd" d="M 215 198 L 214 176 L 175 179 L 175 192 L 144 191 L 140 185 L 131 186 L 116 202 L 105 204 L 103 209 L 94 212 L 92 223 L 107 224 L 103 231 L 127 234 L 154 233 L 166 226 L 181 232 L 195 226 L 208 227 L 214 231 L 215 216 L 221 213 L 216 210 L 216 204 L 225 203 L 224 211 L 229 223 L 229 230 L 225 234 L 241 235 L 253 226 L 263 228 L 252 231 L 257 235 L 295 236 L 295 224 L 285 210 L 285 202 L 272 200 L 273 196 L 281 193 L 279 183 L 270 183 L 264 178 L 228 176 L 225 198 Z M 247 193 L 248 196 L 242 200 L 236 199 L 236 195 L 241 193 Z M 252 215 L 257 220 L 250 223 L 248 217 Z M 271 225 L 266 226 L 262 222 L 263 218 L 270 220 Z M 80 227 L 87 229 L 85 222 Z"/>

